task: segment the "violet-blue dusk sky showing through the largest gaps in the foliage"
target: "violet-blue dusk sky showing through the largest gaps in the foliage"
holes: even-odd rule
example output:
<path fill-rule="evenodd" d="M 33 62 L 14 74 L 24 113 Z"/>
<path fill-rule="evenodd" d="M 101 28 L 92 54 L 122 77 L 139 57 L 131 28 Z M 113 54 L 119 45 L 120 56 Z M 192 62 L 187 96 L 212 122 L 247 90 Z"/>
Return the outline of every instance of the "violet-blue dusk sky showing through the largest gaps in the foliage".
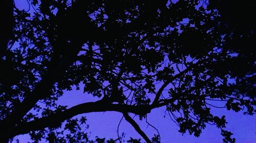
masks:
<path fill-rule="evenodd" d="M 28 10 L 28 2 L 26 0 L 16 0 L 15 5 L 20 9 Z M 65 91 L 64 96 L 58 100 L 58 103 L 71 107 L 80 103 L 96 100 L 97 98 L 92 98 L 92 96 L 84 94 L 82 91 L 72 90 Z M 168 117 L 168 115 L 166 115 L 164 118 L 164 111 L 165 109 L 161 107 L 152 110 L 152 112 L 147 115 L 147 121 L 159 130 L 161 142 L 222 142 L 220 130 L 216 128 L 216 126 L 211 125 L 206 126 L 206 129 L 203 130 L 200 137 L 195 137 L 193 135 L 189 135 L 188 133 L 182 135 L 178 132 L 179 127 Z M 256 116 L 243 116 L 242 112 L 237 113 L 218 108 L 212 109 L 211 111 L 214 113 L 214 115 L 226 116 L 226 121 L 228 122 L 226 129 L 233 133 L 233 137 L 236 137 L 237 142 L 256 143 Z M 117 138 L 117 126 L 122 118 L 121 113 L 113 111 L 92 112 L 86 113 L 84 116 L 87 117 L 87 123 L 90 125 L 87 132 L 91 132 L 91 139 L 94 139 L 95 136 L 102 138 L 106 137 L 107 139 Z M 154 134 L 157 134 L 157 131 L 154 128 L 150 126 L 147 127 L 145 121 L 139 121 L 138 117 L 135 117 L 134 119 L 137 121 L 141 129 L 148 135 L 148 137 L 151 138 L 154 136 Z M 119 126 L 119 133 L 121 134 L 122 132 L 126 134 L 126 140 L 130 137 L 142 138 L 124 119 Z M 19 135 L 15 137 L 15 139 L 17 138 L 20 140 L 20 142 L 30 141 L 30 137 L 28 135 Z"/>

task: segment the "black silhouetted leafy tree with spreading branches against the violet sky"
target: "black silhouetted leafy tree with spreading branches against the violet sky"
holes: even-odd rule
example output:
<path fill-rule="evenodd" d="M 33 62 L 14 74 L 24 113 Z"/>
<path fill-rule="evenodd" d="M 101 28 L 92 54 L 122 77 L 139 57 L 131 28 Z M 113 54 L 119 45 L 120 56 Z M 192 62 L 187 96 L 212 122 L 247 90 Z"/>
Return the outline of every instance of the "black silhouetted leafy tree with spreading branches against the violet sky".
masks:
<path fill-rule="evenodd" d="M 35 142 L 93 142 L 82 132 L 86 118 L 73 117 L 101 111 L 122 113 L 146 142 L 159 142 L 129 114 L 145 120 L 162 106 L 181 133 L 199 136 L 215 124 L 223 142 L 234 142 L 225 116 L 210 108 L 255 113 L 255 2 L 34 0 L 31 7 L 14 8 L 14 36 L 0 59 L 4 142 L 26 133 Z M 99 100 L 56 103 L 79 84 Z"/>

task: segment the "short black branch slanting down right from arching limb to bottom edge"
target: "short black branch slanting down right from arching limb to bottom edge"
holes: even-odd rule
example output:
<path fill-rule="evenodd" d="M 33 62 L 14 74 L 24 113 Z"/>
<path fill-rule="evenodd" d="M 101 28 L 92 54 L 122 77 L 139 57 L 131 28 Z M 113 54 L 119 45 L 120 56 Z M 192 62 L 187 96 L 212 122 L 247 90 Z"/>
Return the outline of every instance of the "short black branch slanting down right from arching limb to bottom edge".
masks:
<path fill-rule="evenodd" d="M 140 129 L 139 125 L 128 115 L 128 113 L 123 112 L 123 116 L 125 120 L 134 127 L 134 129 L 145 139 L 147 143 L 152 143 L 146 134 Z"/>

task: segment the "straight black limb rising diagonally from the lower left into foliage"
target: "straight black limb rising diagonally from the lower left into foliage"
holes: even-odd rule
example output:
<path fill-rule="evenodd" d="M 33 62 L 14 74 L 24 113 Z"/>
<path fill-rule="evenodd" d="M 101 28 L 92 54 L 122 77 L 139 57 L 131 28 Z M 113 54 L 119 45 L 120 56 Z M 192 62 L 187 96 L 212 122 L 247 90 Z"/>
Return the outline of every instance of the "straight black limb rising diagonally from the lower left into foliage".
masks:
<path fill-rule="evenodd" d="M 13 128 L 15 125 L 19 124 L 22 118 L 39 99 L 49 96 L 53 83 L 62 77 L 66 69 L 73 63 L 73 57 L 77 55 L 79 52 L 77 49 L 81 46 L 81 43 L 74 43 L 74 48 L 69 51 L 69 54 L 65 55 L 57 66 L 49 68 L 48 73 L 42 78 L 41 82 L 35 85 L 33 91 L 26 94 L 27 97 L 13 109 L 7 118 L 0 122 L 0 126 Z M 6 133 L 8 133 L 8 131 L 9 130 L 6 130 Z"/>

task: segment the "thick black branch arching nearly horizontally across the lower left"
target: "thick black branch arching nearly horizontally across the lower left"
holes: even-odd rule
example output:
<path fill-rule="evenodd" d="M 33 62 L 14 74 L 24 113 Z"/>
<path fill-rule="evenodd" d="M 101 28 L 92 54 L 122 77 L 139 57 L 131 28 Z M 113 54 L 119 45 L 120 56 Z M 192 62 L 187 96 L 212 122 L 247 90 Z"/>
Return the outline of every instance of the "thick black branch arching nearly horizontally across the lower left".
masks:
<path fill-rule="evenodd" d="M 41 130 L 47 127 L 57 127 L 61 122 L 70 119 L 81 113 L 88 112 L 102 112 L 102 111 L 117 111 L 117 112 L 132 112 L 137 115 L 145 115 L 151 111 L 150 105 L 123 105 L 112 104 L 104 101 L 88 102 L 73 106 L 65 111 L 53 113 L 52 115 L 44 118 L 37 119 L 26 123 L 21 123 L 15 128 L 12 136 L 18 134 L 25 134 L 30 131 Z"/>

